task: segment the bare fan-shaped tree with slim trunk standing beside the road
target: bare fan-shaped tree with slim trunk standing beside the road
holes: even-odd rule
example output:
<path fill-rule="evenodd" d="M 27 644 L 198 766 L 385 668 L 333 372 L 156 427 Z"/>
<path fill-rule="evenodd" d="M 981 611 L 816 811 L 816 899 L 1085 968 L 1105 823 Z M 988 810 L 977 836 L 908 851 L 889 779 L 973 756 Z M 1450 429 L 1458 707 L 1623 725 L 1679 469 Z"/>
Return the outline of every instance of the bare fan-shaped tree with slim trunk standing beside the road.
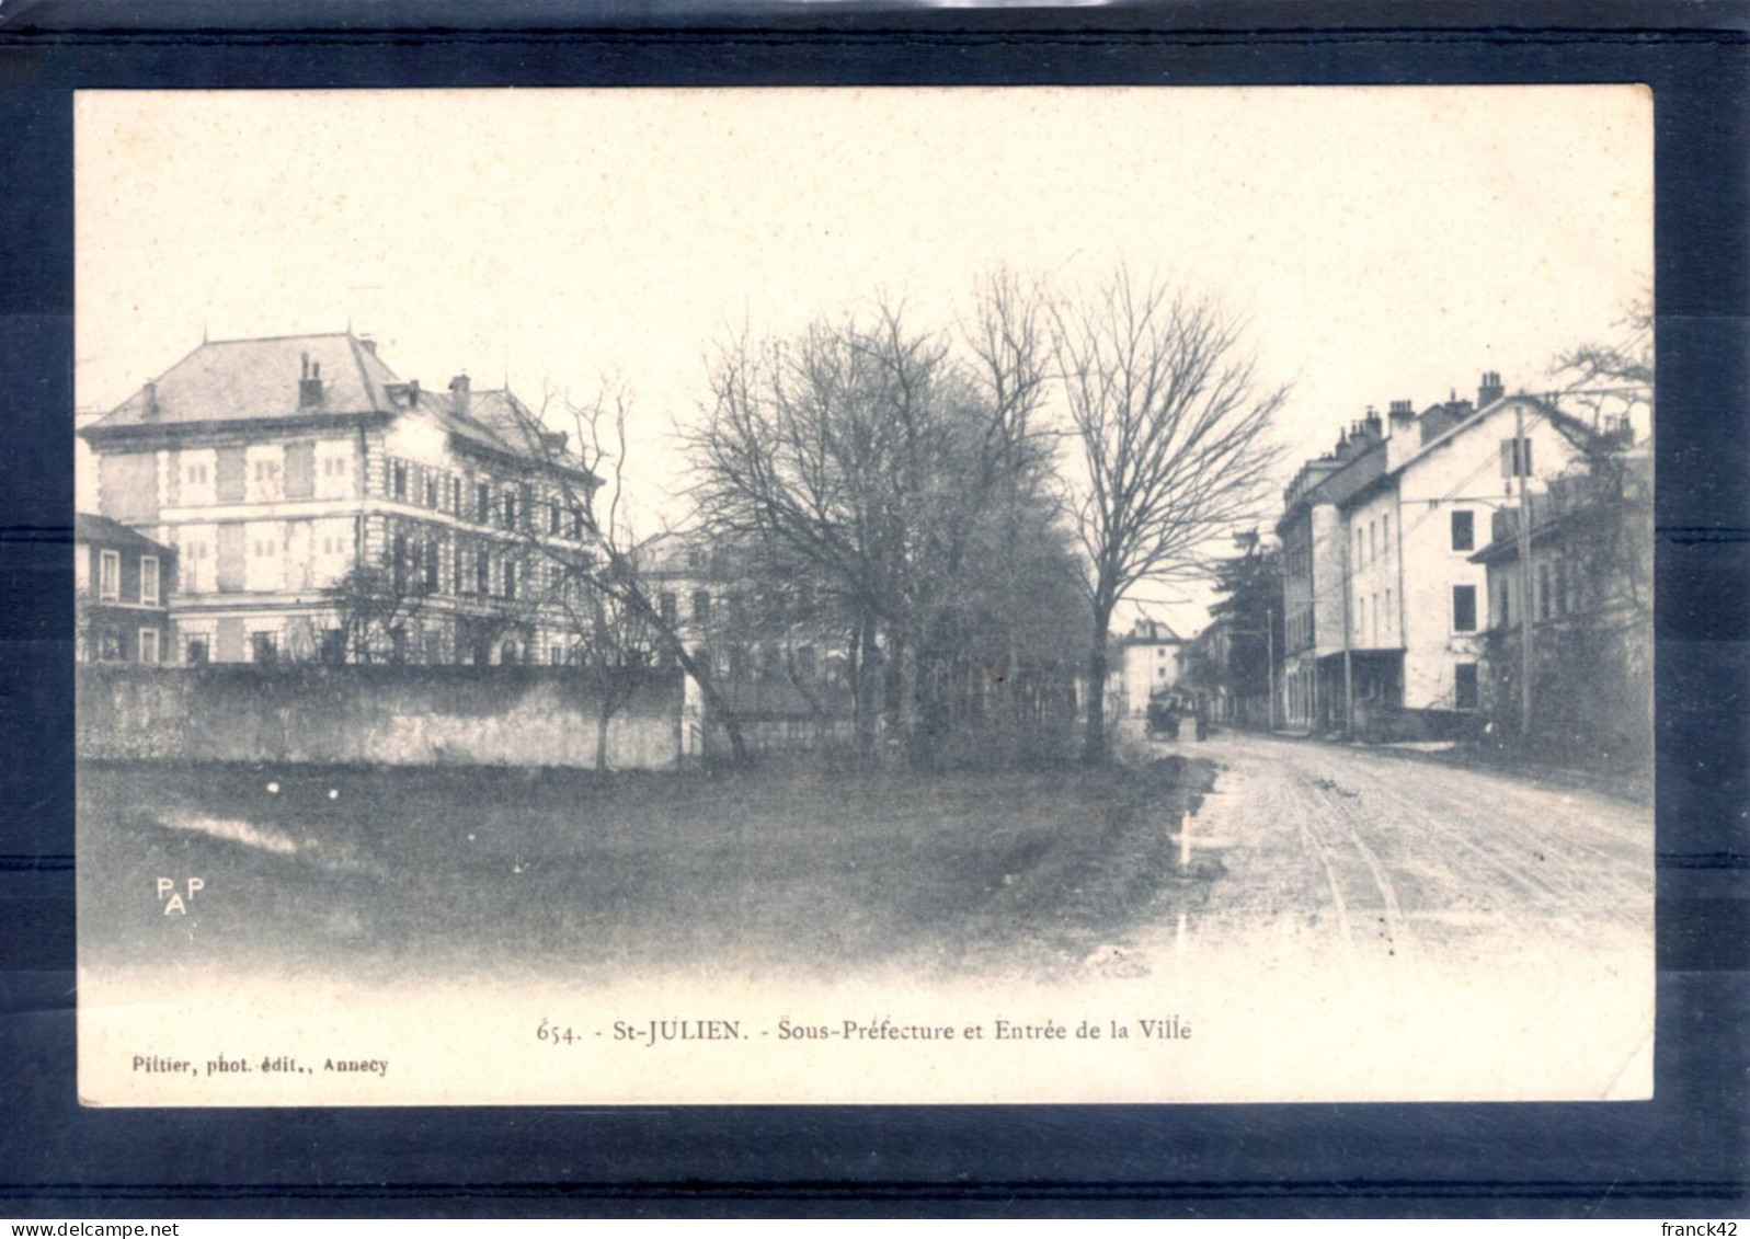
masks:
<path fill-rule="evenodd" d="M 1139 581 L 1206 576 L 1218 539 L 1256 518 L 1288 388 L 1258 388 L 1239 322 L 1125 270 L 1054 326 L 1092 609 L 1083 760 L 1101 763 L 1113 611 Z"/>

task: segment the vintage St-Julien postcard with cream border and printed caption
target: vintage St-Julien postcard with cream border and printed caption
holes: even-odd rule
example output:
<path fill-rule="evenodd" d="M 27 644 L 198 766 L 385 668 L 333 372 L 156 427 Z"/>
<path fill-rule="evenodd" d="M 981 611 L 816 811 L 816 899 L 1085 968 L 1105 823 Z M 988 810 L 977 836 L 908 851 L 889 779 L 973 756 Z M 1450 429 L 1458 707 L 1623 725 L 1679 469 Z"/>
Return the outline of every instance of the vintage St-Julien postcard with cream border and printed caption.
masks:
<path fill-rule="evenodd" d="M 75 103 L 91 1106 L 1652 1092 L 1652 96 Z"/>

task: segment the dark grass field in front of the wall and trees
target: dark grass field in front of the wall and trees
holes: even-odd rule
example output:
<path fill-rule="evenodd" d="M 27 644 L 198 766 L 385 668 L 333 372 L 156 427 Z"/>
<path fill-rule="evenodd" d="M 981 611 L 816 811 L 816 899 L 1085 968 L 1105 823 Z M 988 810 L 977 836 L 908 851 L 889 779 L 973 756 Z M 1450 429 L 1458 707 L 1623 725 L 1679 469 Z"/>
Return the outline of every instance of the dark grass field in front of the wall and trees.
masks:
<path fill-rule="evenodd" d="M 88 763 L 80 957 L 1050 976 L 1208 894 L 1166 835 L 1209 782 L 1180 758 L 928 779 Z"/>

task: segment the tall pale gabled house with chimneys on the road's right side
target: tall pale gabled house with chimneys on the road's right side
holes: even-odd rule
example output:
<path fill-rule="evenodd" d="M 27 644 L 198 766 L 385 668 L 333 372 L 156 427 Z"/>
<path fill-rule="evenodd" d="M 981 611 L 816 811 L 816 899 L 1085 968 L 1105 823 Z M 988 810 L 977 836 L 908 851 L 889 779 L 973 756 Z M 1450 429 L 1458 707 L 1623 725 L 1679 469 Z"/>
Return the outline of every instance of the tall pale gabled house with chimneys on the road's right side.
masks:
<path fill-rule="evenodd" d="M 1489 592 L 1470 556 L 1521 480 L 1542 494 L 1589 430 L 1488 373 L 1477 401 L 1393 401 L 1309 460 L 1284 494 L 1281 714 L 1293 728 L 1382 732 L 1479 709 Z"/>

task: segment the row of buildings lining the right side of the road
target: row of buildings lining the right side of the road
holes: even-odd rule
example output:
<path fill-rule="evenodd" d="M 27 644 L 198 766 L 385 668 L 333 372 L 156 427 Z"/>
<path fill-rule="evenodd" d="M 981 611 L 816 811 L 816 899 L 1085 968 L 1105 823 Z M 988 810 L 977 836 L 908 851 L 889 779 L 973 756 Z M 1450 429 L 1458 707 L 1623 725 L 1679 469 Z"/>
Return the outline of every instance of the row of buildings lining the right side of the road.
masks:
<path fill-rule="evenodd" d="M 1474 401 L 1368 410 L 1283 495 L 1269 555 L 1279 595 L 1246 621 L 1248 665 L 1234 660 L 1241 628 L 1223 618 L 1186 644 L 1181 672 L 1223 700 L 1218 712 L 1258 726 L 1368 738 L 1519 730 L 1535 726 L 1521 710 L 1535 696 L 1544 719 L 1563 704 L 1610 716 L 1563 718 L 1568 733 L 1640 735 L 1650 480 L 1650 439 L 1628 418 L 1584 422 L 1508 394 L 1494 373 Z M 1570 665 L 1587 658 L 1582 639 L 1596 646 L 1592 679 L 1619 691 L 1573 707 L 1587 700 L 1570 682 L 1584 679 Z M 1260 696 L 1236 693 L 1241 679 Z"/>

